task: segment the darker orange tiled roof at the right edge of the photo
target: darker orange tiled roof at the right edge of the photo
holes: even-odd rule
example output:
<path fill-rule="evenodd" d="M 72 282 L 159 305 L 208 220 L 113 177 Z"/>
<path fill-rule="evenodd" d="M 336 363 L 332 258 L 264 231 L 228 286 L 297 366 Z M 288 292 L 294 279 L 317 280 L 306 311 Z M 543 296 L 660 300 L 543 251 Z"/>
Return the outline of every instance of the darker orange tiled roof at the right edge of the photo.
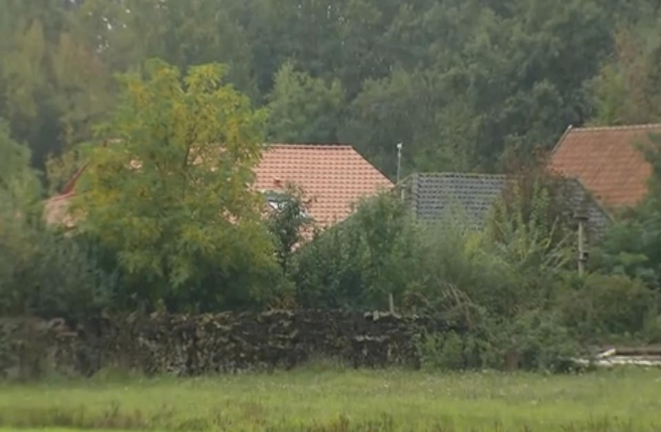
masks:
<path fill-rule="evenodd" d="M 635 206 L 647 195 L 652 173 L 638 147 L 651 144 L 649 133 L 661 133 L 661 124 L 570 128 L 554 149 L 549 168 L 578 178 L 609 208 Z"/>

